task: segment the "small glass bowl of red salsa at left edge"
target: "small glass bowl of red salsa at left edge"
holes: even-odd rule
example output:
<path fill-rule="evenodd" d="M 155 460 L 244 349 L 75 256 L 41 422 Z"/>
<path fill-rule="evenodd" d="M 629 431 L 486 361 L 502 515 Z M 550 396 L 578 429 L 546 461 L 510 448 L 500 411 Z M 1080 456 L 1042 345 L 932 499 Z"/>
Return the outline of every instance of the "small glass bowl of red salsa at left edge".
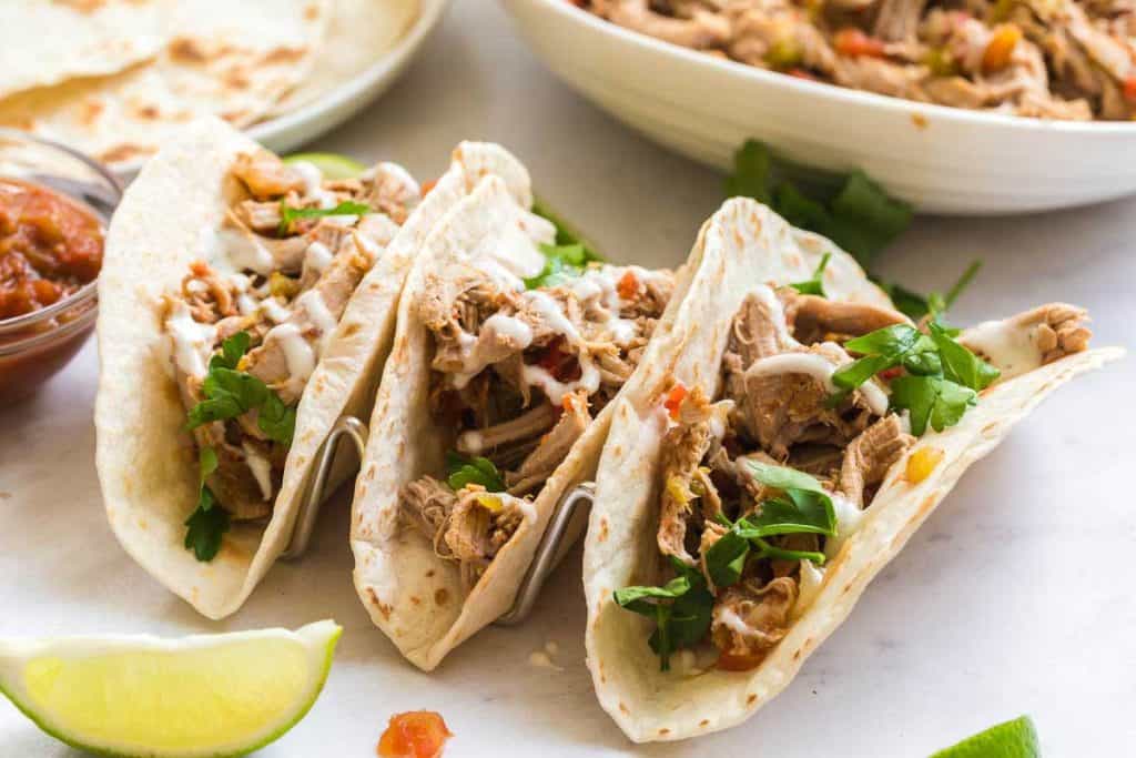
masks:
<path fill-rule="evenodd" d="M 91 335 L 122 194 L 83 153 L 0 130 L 0 407 L 35 392 Z"/>

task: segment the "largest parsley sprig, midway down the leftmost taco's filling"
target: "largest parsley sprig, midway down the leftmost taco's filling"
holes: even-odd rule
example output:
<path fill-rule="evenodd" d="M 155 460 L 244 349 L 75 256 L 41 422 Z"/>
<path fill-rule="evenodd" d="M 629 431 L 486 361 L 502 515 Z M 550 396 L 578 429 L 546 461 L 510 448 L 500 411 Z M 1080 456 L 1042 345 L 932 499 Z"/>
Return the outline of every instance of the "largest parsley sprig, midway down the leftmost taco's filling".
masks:
<path fill-rule="evenodd" d="M 237 332 L 222 342 L 220 352 L 209 360 L 209 370 L 201 383 L 204 399 L 190 409 L 185 428 L 194 430 L 202 424 L 236 418 L 257 409 L 260 431 L 274 442 L 291 444 L 295 432 L 295 407 L 285 406 L 267 384 L 237 369 L 250 342 L 248 332 Z"/>

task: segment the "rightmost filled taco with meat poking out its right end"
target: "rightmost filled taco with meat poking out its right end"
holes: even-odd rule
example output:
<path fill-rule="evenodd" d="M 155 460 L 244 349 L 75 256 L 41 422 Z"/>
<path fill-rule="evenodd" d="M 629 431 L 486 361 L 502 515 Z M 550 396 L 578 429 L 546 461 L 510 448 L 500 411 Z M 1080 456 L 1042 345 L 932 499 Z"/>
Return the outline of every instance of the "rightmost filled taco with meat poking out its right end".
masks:
<path fill-rule="evenodd" d="M 637 742 L 767 703 L 970 464 L 1121 352 L 1063 303 L 913 324 L 751 200 L 698 245 L 667 359 L 617 401 L 585 541 L 587 664 Z"/>

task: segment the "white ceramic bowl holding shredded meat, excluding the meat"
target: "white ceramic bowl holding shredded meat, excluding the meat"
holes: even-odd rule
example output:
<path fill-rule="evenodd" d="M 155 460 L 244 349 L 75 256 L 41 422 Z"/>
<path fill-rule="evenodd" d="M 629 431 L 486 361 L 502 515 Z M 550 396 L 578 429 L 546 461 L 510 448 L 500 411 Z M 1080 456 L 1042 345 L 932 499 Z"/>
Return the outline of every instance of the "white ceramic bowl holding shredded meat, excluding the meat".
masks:
<path fill-rule="evenodd" d="M 922 213 L 995 215 L 1136 192 L 1136 124 L 929 106 L 660 42 L 568 0 L 501 0 L 536 55 L 646 136 L 719 168 L 747 138 L 828 170 L 862 168 Z"/>

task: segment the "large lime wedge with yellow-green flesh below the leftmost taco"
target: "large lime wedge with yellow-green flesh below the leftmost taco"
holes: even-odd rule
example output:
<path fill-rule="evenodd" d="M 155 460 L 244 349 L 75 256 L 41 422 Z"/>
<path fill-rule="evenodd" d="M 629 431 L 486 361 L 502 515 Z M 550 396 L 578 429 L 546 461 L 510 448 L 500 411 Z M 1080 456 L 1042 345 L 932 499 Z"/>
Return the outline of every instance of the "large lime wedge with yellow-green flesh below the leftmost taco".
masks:
<path fill-rule="evenodd" d="M 243 756 L 308 713 L 342 631 L 323 620 L 176 640 L 0 640 L 0 691 L 48 734 L 95 753 Z"/>

